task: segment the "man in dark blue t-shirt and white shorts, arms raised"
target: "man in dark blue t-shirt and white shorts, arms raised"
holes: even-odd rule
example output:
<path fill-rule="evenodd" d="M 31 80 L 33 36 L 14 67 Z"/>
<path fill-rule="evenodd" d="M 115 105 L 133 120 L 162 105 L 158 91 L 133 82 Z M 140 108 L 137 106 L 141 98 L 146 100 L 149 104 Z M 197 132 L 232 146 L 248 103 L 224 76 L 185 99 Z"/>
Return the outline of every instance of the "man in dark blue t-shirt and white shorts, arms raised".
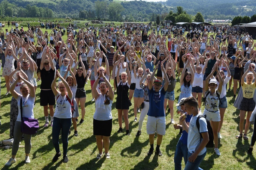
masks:
<path fill-rule="evenodd" d="M 147 155 L 152 155 L 154 151 L 154 136 L 157 133 L 157 145 L 156 145 L 156 154 L 159 156 L 162 155 L 160 151 L 160 145 L 162 142 L 162 137 L 165 135 L 165 111 L 164 111 L 164 101 L 165 101 L 165 94 L 168 88 L 168 83 L 165 83 L 162 87 L 162 82 L 159 79 L 156 79 L 154 82 L 154 77 L 156 70 L 158 68 L 160 62 L 158 62 L 154 72 L 151 75 L 150 82 L 148 83 L 148 96 L 150 107 L 148 110 L 148 117 L 147 117 L 147 134 L 149 135 L 150 141 L 150 150 L 148 151 Z M 168 80 L 167 74 L 165 69 L 163 68 L 163 64 L 161 63 L 161 71 L 163 72 L 165 80 Z M 154 89 L 153 89 L 154 86 Z"/>

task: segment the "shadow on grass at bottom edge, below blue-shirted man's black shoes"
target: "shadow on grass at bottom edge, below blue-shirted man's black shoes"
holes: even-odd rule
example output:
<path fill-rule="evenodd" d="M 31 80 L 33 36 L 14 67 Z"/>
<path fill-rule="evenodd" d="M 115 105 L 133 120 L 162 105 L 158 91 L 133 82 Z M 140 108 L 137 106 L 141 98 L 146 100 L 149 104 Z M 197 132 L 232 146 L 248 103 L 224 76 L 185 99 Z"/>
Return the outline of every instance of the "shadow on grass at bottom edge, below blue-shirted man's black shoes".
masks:
<path fill-rule="evenodd" d="M 154 153 L 153 153 L 154 154 Z M 158 155 L 154 154 L 151 162 L 149 162 L 151 156 L 146 156 L 141 162 L 134 166 L 133 169 L 155 169 L 158 167 Z"/>

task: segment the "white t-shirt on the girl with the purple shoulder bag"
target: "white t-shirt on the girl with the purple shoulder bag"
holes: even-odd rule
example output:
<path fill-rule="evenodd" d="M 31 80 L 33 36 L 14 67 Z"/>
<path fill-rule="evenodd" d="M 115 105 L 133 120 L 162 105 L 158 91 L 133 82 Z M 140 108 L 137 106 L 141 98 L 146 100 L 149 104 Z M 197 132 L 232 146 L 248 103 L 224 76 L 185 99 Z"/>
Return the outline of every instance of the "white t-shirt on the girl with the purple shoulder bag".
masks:
<path fill-rule="evenodd" d="M 20 99 L 21 98 L 22 98 L 23 117 L 34 119 L 33 106 L 34 106 L 35 98 L 30 97 L 30 95 L 28 95 L 27 97 L 23 97 L 22 95 L 19 95 L 18 98 L 16 99 L 18 102 L 18 109 L 19 109 L 17 121 L 21 122 L 21 117 L 20 117 Z"/>

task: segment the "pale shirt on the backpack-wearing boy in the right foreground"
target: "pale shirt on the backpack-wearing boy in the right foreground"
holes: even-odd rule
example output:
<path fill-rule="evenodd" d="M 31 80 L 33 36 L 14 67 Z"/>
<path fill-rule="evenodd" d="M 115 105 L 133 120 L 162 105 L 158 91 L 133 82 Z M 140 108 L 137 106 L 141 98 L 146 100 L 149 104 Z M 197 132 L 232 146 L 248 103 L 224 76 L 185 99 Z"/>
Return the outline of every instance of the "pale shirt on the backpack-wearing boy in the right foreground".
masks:
<path fill-rule="evenodd" d="M 188 148 L 189 153 L 194 153 L 197 150 L 197 148 L 199 147 L 199 145 L 201 143 L 200 133 L 208 132 L 207 123 L 204 118 L 199 119 L 200 133 L 198 132 L 196 120 L 199 115 L 202 115 L 202 113 L 200 112 L 198 115 L 193 116 L 189 122 L 188 137 L 187 137 L 187 148 Z M 198 155 L 202 155 L 204 152 L 206 152 L 205 147 Z"/>

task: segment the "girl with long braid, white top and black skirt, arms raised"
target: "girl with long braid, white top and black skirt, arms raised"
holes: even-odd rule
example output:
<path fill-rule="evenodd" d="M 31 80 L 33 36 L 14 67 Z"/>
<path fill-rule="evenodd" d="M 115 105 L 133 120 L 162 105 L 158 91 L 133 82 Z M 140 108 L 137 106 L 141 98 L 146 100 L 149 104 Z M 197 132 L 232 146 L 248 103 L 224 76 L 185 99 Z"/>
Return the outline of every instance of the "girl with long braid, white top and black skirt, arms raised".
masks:
<path fill-rule="evenodd" d="M 100 78 L 105 82 L 100 83 L 100 93 L 96 89 Z M 103 143 L 106 158 L 110 158 L 109 145 L 110 135 L 112 131 L 112 114 L 111 107 L 114 99 L 114 91 L 108 79 L 104 75 L 104 71 L 100 71 L 98 78 L 95 80 L 92 89 L 92 95 L 95 99 L 95 113 L 93 116 L 93 134 L 96 136 L 96 143 L 99 150 L 97 155 L 101 159 L 103 155 Z"/>

